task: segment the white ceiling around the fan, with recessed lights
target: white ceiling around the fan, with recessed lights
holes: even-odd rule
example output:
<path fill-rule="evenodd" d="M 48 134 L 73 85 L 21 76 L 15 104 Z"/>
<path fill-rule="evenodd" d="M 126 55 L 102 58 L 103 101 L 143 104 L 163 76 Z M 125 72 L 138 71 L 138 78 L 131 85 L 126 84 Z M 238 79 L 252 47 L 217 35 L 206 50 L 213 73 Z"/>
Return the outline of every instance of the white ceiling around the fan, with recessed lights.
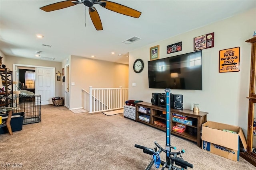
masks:
<path fill-rule="evenodd" d="M 95 59 L 128 64 L 129 51 L 256 8 L 255 0 L 112 0 L 142 12 L 140 18 L 94 4 L 103 25 L 102 31 L 96 31 L 84 4 L 53 12 L 39 9 L 60 1 L 0 0 L 0 50 L 32 59 L 38 59 L 36 51 L 42 51 L 42 57 L 60 62 L 70 55 L 94 55 Z M 44 38 L 38 39 L 36 34 Z M 122 43 L 133 36 L 141 39 Z"/>

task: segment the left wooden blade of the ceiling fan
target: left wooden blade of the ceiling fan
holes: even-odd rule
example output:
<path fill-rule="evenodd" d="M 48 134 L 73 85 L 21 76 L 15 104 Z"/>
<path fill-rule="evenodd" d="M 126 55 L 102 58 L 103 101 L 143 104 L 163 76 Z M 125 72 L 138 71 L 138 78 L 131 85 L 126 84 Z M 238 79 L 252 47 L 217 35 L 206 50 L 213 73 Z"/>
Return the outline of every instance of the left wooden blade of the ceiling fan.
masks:
<path fill-rule="evenodd" d="M 60 10 L 63 8 L 74 6 L 76 4 L 79 4 L 79 1 L 66 0 L 66 1 L 56 2 L 54 4 L 43 6 L 40 9 L 44 10 L 45 12 L 50 12 L 50 11 Z"/>

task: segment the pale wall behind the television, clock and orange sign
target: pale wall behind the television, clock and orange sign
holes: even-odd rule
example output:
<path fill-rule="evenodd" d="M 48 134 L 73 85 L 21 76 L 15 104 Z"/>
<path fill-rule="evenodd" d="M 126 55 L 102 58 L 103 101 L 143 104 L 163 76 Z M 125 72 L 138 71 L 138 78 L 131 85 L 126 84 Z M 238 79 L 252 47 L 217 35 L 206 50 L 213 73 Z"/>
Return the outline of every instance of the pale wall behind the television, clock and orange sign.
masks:
<path fill-rule="evenodd" d="M 214 47 L 202 50 L 203 90 L 171 90 L 183 94 L 184 109 L 200 104 L 200 111 L 209 112 L 208 120 L 243 128 L 247 134 L 251 44 L 246 43 L 256 30 L 256 9 L 210 25 L 156 42 L 135 51 L 129 57 L 129 99 L 150 102 L 152 92 L 164 89 L 148 88 L 149 48 L 160 45 L 160 59 L 194 51 L 194 37 L 214 32 Z M 175 25 L 174 25 L 175 27 Z M 182 51 L 166 55 L 166 46 L 182 41 Z M 240 47 L 240 71 L 219 73 L 219 51 Z M 144 70 L 136 74 L 132 65 L 144 61 Z M 136 86 L 132 86 L 135 82 Z"/>

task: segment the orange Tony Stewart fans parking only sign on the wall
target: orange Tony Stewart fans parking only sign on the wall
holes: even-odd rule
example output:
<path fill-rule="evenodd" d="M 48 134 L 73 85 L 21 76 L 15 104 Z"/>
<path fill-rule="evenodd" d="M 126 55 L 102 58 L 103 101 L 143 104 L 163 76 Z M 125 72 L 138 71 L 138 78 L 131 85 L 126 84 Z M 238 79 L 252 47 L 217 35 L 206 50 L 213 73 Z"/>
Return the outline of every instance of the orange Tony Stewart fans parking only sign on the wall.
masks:
<path fill-rule="evenodd" d="M 235 72 L 240 70 L 240 47 L 220 50 L 219 72 Z"/>

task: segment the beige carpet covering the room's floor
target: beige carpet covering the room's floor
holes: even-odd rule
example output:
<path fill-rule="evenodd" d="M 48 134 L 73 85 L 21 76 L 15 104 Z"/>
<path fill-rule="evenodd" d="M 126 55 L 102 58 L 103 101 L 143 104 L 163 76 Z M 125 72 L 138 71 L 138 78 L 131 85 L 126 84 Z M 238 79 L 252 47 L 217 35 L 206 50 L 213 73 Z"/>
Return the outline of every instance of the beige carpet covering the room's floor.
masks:
<path fill-rule="evenodd" d="M 150 155 L 134 144 L 166 144 L 165 132 L 124 118 L 123 114 L 74 114 L 64 106 L 42 106 L 42 122 L 23 125 L 12 136 L 0 135 L 0 164 L 22 164 L 4 170 L 144 170 Z M 255 170 L 202 150 L 196 143 L 171 136 L 172 146 L 184 149 L 193 170 Z M 161 154 L 164 159 L 165 156 Z M 191 168 L 188 168 L 191 169 Z"/>

